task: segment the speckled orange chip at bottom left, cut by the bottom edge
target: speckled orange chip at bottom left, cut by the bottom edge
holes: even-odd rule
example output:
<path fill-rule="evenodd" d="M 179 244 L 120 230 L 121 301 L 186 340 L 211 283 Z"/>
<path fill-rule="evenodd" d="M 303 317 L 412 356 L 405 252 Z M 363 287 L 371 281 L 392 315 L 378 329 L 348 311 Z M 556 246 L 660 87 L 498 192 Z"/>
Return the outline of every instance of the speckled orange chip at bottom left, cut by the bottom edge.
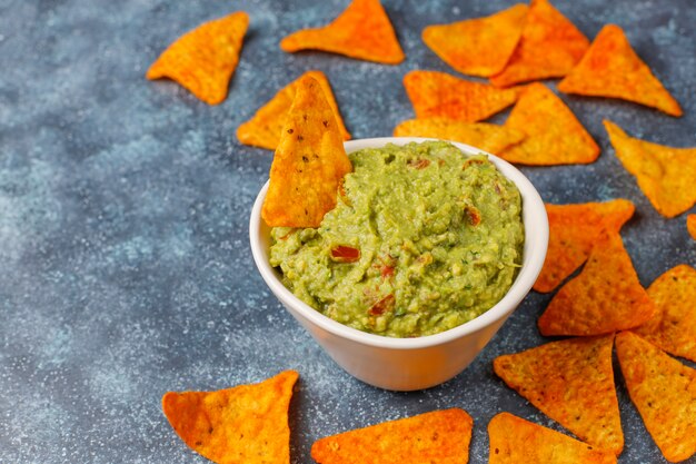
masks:
<path fill-rule="evenodd" d="M 298 374 L 218 392 L 168 392 L 162 409 L 186 444 L 222 464 L 290 462 L 288 408 Z"/>

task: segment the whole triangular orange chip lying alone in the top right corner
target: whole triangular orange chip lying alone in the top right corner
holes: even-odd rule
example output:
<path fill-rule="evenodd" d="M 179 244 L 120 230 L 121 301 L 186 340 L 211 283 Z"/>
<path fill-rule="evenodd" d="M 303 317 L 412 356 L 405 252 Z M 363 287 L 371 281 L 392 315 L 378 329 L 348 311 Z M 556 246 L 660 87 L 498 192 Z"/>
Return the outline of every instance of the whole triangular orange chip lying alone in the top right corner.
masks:
<path fill-rule="evenodd" d="M 577 67 L 558 83 L 566 93 L 620 98 L 682 116 L 682 108 L 630 48 L 618 26 L 605 26 Z"/>

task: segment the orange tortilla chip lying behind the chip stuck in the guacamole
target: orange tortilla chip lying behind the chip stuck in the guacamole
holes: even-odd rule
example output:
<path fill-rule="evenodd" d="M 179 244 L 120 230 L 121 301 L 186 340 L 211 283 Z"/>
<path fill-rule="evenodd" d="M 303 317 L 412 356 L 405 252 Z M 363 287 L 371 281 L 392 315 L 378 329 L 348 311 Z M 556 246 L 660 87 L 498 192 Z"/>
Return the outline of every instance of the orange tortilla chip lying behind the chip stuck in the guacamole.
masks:
<path fill-rule="evenodd" d="M 324 96 L 334 110 L 336 124 L 338 125 L 344 140 L 350 140 L 350 134 L 346 130 L 346 126 L 344 126 L 344 120 L 338 111 L 338 105 L 336 105 L 329 80 L 321 71 L 307 71 L 298 79 L 280 89 L 269 102 L 259 108 L 251 119 L 237 128 L 237 138 L 239 141 L 245 145 L 275 150 L 280 141 L 280 132 L 282 131 L 282 126 L 285 126 L 286 116 L 292 106 L 297 87 L 300 80 L 306 76 L 315 78 L 317 82 L 319 82 L 321 90 L 324 90 Z"/>

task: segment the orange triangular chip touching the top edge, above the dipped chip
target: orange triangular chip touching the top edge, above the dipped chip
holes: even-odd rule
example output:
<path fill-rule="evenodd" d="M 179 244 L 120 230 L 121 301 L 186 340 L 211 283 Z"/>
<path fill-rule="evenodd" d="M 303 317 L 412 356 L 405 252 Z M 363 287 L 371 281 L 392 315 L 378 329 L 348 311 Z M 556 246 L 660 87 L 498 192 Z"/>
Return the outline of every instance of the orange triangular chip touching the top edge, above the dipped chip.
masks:
<path fill-rule="evenodd" d="M 294 32 L 280 41 L 280 48 L 288 52 L 321 50 L 386 65 L 405 58 L 379 0 L 352 0 L 330 24 Z"/>

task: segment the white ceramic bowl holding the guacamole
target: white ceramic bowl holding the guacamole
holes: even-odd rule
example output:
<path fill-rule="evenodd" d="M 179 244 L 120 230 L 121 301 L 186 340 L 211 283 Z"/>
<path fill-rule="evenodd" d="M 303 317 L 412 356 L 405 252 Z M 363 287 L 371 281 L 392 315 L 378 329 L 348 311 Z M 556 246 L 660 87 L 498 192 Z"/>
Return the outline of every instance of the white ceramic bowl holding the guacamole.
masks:
<path fill-rule="evenodd" d="M 378 148 L 387 144 L 406 145 L 424 138 L 385 137 L 350 140 L 346 151 Z M 454 144 L 468 155 L 481 150 Z M 417 338 L 390 338 L 367 334 L 322 315 L 287 289 L 278 270 L 268 263 L 270 228 L 261 219 L 261 205 L 268 182 L 261 188 L 249 224 L 253 260 L 271 292 L 290 314 L 344 369 L 370 385 L 412 391 L 438 385 L 456 376 L 474 361 L 515 310 L 536 280 L 548 246 L 548 219 L 544 203 L 531 182 L 507 161 L 489 155 L 490 160 L 521 194 L 525 246 L 523 266 L 509 292 L 493 308 L 458 327 Z"/>

